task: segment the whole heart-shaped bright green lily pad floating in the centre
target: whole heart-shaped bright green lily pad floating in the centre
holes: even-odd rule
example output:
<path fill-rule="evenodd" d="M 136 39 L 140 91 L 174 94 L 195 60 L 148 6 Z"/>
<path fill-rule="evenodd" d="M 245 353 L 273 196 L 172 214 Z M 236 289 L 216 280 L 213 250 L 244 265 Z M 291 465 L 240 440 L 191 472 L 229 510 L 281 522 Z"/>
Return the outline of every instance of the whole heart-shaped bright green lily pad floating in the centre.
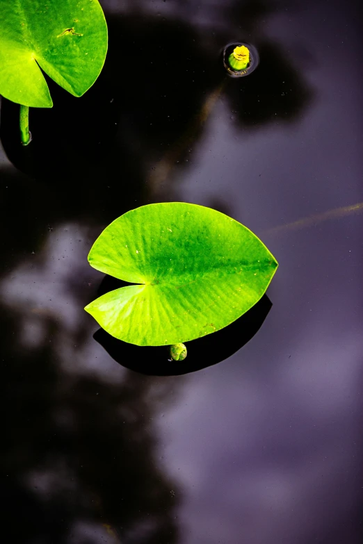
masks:
<path fill-rule="evenodd" d="M 241 223 L 181 202 L 118 217 L 97 238 L 88 261 L 139 284 L 85 308 L 112 336 L 136 345 L 177 344 L 223 329 L 259 301 L 277 269 L 266 246 Z"/>

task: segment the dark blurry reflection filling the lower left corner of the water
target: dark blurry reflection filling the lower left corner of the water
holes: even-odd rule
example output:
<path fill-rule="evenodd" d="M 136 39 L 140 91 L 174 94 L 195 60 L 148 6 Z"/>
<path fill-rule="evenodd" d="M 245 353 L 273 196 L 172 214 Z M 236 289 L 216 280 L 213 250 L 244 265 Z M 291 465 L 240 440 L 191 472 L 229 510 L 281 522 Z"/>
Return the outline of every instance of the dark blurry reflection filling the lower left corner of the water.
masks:
<path fill-rule="evenodd" d="M 67 374 L 55 322 L 29 353 L 13 347 L 17 324 L 1 315 L 1 541 L 177 543 L 180 495 L 159 467 L 152 422 L 168 384 Z"/>

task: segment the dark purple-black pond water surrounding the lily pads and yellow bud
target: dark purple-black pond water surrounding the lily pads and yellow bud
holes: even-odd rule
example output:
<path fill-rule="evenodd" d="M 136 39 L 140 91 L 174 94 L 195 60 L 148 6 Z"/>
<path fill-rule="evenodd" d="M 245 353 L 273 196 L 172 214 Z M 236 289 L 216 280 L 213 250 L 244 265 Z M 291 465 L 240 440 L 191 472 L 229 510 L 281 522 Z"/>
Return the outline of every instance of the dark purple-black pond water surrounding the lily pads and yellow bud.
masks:
<path fill-rule="evenodd" d="M 102 6 L 83 98 L 49 83 L 24 149 L 1 106 L 1 542 L 360 543 L 361 4 Z M 260 55 L 237 80 L 233 40 Z M 87 263 L 104 226 L 170 200 L 231 215 L 280 263 L 184 370 L 83 311 L 107 288 Z"/>

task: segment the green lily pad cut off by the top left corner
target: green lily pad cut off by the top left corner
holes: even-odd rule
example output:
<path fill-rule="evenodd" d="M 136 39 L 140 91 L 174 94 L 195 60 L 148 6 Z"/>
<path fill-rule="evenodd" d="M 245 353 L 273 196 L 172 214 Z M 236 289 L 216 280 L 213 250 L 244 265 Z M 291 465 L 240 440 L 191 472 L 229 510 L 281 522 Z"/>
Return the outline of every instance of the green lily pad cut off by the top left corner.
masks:
<path fill-rule="evenodd" d="M 97 0 L 0 0 L 0 13 L 3 97 L 51 108 L 42 70 L 76 97 L 95 83 L 107 51 L 107 26 Z"/>

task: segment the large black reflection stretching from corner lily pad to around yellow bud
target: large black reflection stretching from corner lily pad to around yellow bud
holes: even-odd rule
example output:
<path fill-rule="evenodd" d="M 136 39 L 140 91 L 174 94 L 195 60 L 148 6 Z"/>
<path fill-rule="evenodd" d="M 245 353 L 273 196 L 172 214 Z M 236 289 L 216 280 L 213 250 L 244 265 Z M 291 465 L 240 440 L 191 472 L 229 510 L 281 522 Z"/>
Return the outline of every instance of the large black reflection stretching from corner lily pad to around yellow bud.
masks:
<path fill-rule="evenodd" d="M 28 147 L 19 143 L 19 106 L 3 99 L 0 135 L 6 154 L 67 201 L 60 210 L 52 203 L 55 215 L 86 212 L 110 221 L 136 200 L 147 201 L 145 180 L 154 165 L 190 164 L 213 92 L 229 97 L 244 128 L 300 118 L 311 91 L 286 53 L 261 40 L 264 4 L 257 9 L 249 3 L 243 12 L 250 16 L 245 26 L 241 18 L 239 37 L 217 32 L 213 39 L 209 30 L 186 22 L 108 15 L 109 49 L 99 79 L 81 98 L 47 79 L 54 108 L 31 108 Z M 236 24 L 235 13 L 230 16 Z M 261 63 L 251 76 L 233 81 L 220 62 L 220 48 L 245 33 L 254 36 Z"/>

